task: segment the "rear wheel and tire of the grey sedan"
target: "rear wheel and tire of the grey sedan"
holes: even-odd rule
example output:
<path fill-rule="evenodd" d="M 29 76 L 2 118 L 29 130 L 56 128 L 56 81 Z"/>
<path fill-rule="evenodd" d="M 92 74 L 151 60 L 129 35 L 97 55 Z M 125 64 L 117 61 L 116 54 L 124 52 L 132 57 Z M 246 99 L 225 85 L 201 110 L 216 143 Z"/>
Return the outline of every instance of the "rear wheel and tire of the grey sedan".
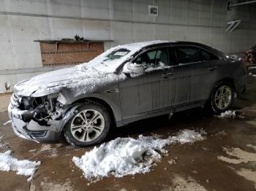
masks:
<path fill-rule="evenodd" d="M 214 87 L 210 98 L 210 109 L 214 113 L 222 113 L 233 104 L 234 87 L 230 82 L 219 82 Z"/>

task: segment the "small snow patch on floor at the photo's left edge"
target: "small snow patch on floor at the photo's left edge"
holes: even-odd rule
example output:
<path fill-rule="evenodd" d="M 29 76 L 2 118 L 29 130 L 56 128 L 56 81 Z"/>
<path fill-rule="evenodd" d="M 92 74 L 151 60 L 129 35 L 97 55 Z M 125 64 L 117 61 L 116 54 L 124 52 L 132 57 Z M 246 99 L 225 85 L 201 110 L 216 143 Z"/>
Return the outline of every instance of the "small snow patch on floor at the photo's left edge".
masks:
<path fill-rule="evenodd" d="M 17 171 L 16 174 L 30 176 L 28 181 L 31 181 L 31 177 L 41 162 L 18 160 L 12 157 L 10 154 L 10 150 L 4 153 L 0 152 L 0 171 Z"/>

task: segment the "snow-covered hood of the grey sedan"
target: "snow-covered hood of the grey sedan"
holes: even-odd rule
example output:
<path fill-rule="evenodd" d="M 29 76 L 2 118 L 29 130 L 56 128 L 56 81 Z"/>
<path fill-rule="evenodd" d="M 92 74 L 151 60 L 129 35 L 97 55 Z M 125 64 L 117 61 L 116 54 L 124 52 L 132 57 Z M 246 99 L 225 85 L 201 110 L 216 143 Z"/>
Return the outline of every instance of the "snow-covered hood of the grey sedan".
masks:
<path fill-rule="evenodd" d="M 23 80 L 14 86 L 14 93 L 21 96 L 39 97 L 56 93 L 64 87 L 75 89 L 75 87 L 81 85 L 91 86 L 92 82 L 96 84 L 97 82 L 107 82 L 106 77 L 109 77 L 109 75 L 113 75 L 113 73 L 98 71 L 94 67 L 81 64 Z"/>

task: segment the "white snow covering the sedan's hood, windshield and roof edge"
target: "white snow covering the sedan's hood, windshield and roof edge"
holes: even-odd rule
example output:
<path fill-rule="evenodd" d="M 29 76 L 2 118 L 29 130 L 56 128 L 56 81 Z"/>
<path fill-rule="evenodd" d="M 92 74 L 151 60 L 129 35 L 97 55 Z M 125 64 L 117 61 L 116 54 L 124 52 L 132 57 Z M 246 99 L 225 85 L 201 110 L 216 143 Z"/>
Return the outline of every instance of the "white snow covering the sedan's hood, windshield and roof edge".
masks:
<path fill-rule="evenodd" d="M 94 87 L 99 86 L 97 83 L 102 85 L 104 82 L 118 80 L 114 74 L 116 68 L 121 63 L 124 63 L 124 61 L 131 58 L 131 56 L 141 48 L 150 44 L 166 42 L 170 41 L 138 42 L 113 47 L 110 48 L 110 50 L 103 52 L 89 63 L 82 63 L 72 68 L 50 71 L 48 73 L 32 77 L 31 79 L 23 80 L 15 85 L 14 92 L 17 95 L 31 96 L 31 94 L 33 94 L 33 96 L 37 97 L 56 93 L 64 87 L 69 87 L 73 90 L 79 87 L 78 89 L 80 90 L 80 86 L 82 85 L 83 91 L 86 93 L 94 90 Z M 127 49 L 129 52 L 127 55 L 118 59 L 110 61 L 106 59 L 107 55 L 118 49 Z"/>

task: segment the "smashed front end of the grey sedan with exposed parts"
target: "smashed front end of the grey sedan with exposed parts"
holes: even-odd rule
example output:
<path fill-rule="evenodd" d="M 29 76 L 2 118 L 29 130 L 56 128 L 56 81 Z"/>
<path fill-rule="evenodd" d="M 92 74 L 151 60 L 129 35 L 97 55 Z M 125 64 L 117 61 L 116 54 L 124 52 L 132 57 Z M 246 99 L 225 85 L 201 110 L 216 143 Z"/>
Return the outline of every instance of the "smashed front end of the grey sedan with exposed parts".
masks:
<path fill-rule="evenodd" d="M 39 98 L 13 94 L 8 114 L 16 135 L 23 139 L 48 142 L 59 139 L 62 128 L 76 108 L 77 106 L 64 108 L 57 101 L 56 94 Z"/>

